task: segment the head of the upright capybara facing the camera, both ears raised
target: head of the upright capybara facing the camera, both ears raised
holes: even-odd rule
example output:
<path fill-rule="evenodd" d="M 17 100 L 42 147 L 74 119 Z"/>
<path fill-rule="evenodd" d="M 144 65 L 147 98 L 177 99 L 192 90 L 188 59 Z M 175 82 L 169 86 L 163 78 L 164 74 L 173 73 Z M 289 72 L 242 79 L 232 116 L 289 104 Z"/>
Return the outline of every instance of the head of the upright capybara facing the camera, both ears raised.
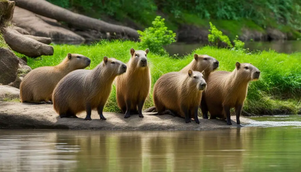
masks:
<path fill-rule="evenodd" d="M 130 50 L 132 58 L 131 63 L 136 64 L 138 68 L 145 68 L 147 67 L 147 54 L 149 52 L 149 49 L 147 48 L 145 51 L 143 50 L 137 50 L 135 51 L 134 48 L 131 48 Z"/>

